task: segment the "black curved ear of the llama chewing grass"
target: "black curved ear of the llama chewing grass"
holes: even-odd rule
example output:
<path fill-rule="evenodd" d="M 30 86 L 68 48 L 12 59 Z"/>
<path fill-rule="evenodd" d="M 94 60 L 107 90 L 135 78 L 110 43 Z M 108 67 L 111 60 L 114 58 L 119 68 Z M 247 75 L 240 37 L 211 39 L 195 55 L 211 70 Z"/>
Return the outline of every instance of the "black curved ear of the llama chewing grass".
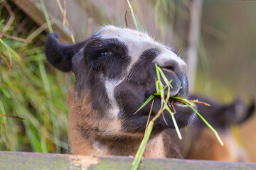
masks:
<path fill-rule="evenodd" d="M 57 33 L 50 33 L 46 42 L 46 58 L 50 64 L 63 72 L 72 70 L 72 57 L 85 45 L 80 42 L 75 45 L 66 45 L 58 40 Z"/>

